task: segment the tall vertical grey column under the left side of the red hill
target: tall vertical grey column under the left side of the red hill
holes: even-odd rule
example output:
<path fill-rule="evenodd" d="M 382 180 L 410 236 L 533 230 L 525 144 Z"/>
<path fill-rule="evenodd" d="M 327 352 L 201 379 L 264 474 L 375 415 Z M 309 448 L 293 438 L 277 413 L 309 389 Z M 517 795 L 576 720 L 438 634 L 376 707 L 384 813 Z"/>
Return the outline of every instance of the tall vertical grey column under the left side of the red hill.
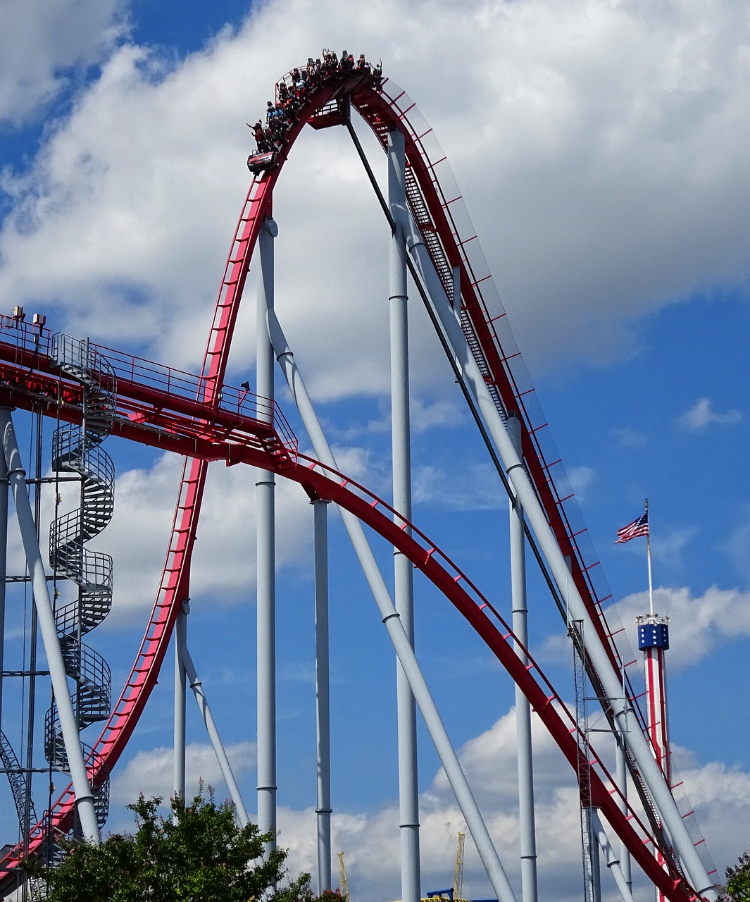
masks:
<path fill-rule="evenodd" d="M 273 310 L 273 239 L 279 228 L 270 216 L 258 235 L 259 279 L 256 335 L 256 393 L 273 400 L 273 350 L 266 315 Z M 270 407 L 258 419 L 273 419 Z M 258 667 L 258 826 L 270 833 L 267 851 L 276 848 L 276 548 L 275 480 L 256 470 L 257 536 L 257 667 Z"/>

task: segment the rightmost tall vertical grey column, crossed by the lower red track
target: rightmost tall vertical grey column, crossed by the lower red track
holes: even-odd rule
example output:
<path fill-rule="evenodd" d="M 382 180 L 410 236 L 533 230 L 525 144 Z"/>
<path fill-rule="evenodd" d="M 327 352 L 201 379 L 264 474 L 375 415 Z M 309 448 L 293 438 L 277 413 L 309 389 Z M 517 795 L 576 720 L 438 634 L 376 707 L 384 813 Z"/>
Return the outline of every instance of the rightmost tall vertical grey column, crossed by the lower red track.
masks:
<path fill-rule="evenodd" d="M 520 455 L 521 424 L 508 419 L 508 434 Z M 513 632 L 516 654 L 528 664 L 528 608 L 526 606 L 526 537 L 524 508 L 518 498 L 509 499 L 510 508 L 510 592 L 513 604 Z M 531 746 L 531 704 L 516 686 L 516 733 L 518 755 L 518 827 L 521 846 L 521 894 L 524 902 L 536 902 L 536 824 L 534 816 L 534 760 Z"/>

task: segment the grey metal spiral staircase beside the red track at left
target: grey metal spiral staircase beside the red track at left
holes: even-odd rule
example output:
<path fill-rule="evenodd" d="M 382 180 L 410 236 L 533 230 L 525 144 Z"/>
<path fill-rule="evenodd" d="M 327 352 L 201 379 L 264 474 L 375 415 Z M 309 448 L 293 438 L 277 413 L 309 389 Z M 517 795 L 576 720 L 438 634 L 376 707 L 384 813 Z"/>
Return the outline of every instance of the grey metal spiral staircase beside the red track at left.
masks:
<path fill-rule="evenodd" d="M 55 620 L 66 673 L 76 685 L 73 711 L 83 731 L 106 720 L 111 707 L 109 666 L 82 638 L 104 621 L 112 605 L 112 557 L 86 545 L 105 529 L 114 511 L 114 465 L 100 445 L 112 428 L 116 382 L 110 365 L 86 339 L 53 336 L 51 355 L 59 370 L 83 388 L 82 426 L 60 426 L 52 438 L 52 470 L 78 476 L 80 505 L 50 526 L 50 566 L 58 579 L 78 585 L 77 597 L 56 606 Z M 69 772 L 54 703 L 45 718 L 44 736 L 50 767 Z M 82 747 L 90 767 L 92 751 L 85 743 Z M 92 788 L 96 817 L 103 826 L 109 810 L 108 777 Z"/>

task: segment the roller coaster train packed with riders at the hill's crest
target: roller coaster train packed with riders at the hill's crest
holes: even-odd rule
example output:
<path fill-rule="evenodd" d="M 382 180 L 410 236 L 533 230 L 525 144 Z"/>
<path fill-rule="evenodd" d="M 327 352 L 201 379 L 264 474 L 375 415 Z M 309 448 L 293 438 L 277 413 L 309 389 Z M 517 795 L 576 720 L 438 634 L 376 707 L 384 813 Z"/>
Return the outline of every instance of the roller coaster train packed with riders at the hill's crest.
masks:
<path fill-rule="evenodd" d="M 252 128 L 256 151 L 247 158 L 247 168 L 254 174 L 270 170 L 276 165 L 279 151 L 287 140 L 291 126 L 302 107 L 315 94 L 318 87 L 332 80 L 370 76 L 374 87 L 379 88 L 383 80 L 382 63 L 371 66 L 361 53 L 359 59 L 347 51 L 342 51 L 341 60 L 335 51 L 324 49 L 323 60 L 307 57 L 305 66 L 296 66 L 282 78 L 277 86 L 275 103 L 266 104 L 266 126 L 261 119 Z"/>

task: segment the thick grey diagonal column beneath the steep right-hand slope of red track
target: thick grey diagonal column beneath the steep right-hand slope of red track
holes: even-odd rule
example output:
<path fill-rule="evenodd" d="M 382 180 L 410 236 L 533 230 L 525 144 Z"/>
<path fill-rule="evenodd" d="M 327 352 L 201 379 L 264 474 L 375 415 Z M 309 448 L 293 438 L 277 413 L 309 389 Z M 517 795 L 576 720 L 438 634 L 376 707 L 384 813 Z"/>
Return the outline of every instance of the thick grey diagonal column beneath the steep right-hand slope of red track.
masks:
<path fill-rule="evenodd" d="M 709 879 L 706 869 L 700 861 L 698 851 L 682 821 L 670 787 L 667 786 L 663 773 L 654 760 L 648 741 L 640 729 L 626 732 L 627 715 L 632 709 L 627 698 L 624 697 L 623 687 L 620 684 L 617 671 L 612 666 L 608 653 L 599 639 L 599 633 L 593 626 L 581 594 L 569 578 L 563 552 L 557 545 L 552 530 L 549 528 L 544 510 L 536 498 L 534 487 L 526 476 L 524 465 L 513 447 L 513 443 L 508 436 L 508 430 L 505 428 L 502 419 L 500 419 L 495 402 L 489 394 L 487 384 L 484 382 L 479 367 L 466 344 L 460 323 L 445 297 L 443 285 L 434 271 L 433 262 L 422 242 L 422 237 L 411 221 L 409 221 L 408 227 L 410 234 L 407 237 L 407 246 L 410 253 L 412 253 L 420 280 L 423 281 L 427 295 L 432 301 L 434 312 L 443 327 L 444 336 L 453 349 L 455 362 L 477 401 L 489 434 L 498 449 L 498 454 L 505 463 L 508 479 L 524 506 L 526 520 L 528 520 L 531 529 L 534 530 L 539 548 L 544 554 L 550 572 L 562 590 L 565 587 L 568 589 L 568 604 L 572 620 L 582 621 L 583 623 L 586 650 L 591 663 L 599 674 L 602 687 L 608 697 L 608 704 L 610 704 L 614 714 L 617 730 L 625 736 L 627 747 L 636 760 L 654 804 L 662 815 L 663 824 L 672 837 L 672 844 L 680 857 L 692 887 L 700 896 L 714 900 L 717 898 L 714 884 Z"/>

